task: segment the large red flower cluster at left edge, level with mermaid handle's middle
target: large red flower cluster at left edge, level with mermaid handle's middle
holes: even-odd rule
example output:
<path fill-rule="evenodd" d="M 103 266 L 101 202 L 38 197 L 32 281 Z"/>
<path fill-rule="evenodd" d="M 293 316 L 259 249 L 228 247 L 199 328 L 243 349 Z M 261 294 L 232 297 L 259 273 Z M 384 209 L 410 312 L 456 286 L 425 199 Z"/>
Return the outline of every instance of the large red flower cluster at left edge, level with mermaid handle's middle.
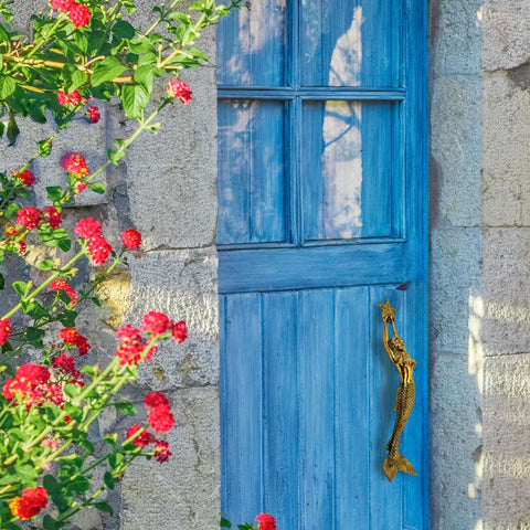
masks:
<path fill-rule="evenodd" d="M 22 364 L 14 379 L 6 381 L 3 395 L 8 401 L 20 398 L 28 407 L 43 403 L 64 403 L 63 390 L 57 383 L 50 383 L 50 370 L 41 364 Z"/>

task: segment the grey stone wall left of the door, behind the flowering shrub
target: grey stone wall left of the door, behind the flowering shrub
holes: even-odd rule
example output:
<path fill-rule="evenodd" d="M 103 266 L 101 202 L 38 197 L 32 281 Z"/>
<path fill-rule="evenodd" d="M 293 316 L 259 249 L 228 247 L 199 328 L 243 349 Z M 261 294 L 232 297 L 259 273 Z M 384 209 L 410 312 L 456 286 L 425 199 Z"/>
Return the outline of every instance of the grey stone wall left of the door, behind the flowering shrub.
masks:
<path fill-rule="evenodd" d="M 147 26 L 152 1 L 137 1 L 135 19 Z M 182 10 L 186 4 L 182 2 Z M 42 2 L 44 9 L 45 3 Z M 19 25 L 29 20 L 34 2 L 17 2 Z M 127 469 L 121 485 L 109 495 L 118 507 L 114 517 L 83 510 L 74 528 L 174 530 L 218 528 L 220 518 L 219 458 L 219 329 L 216 230 L 216 92 L 214 31 L 201 36 L 199 46 L 211 62 L 186 72 L 181 78 L 193 91 L 186 107 L 167 107 L 157 135 L 145 132 L 117 168 L 104 179 L 105 195 L 84 192 L 70 209 L 72 230 L 82 216 L 99 219 L 104 234 L 118 244 L 119 233 L 136 229 L 142 234 L 142 251 L 129 259 L 130 269 L 118 272 L 105 283 L 99 295 L 105 304 L 78 317 L 78 329 L 93 344 L 91 362 L 106 363 L 114 356 L 117 327 L 138 325 L 148 310 L 160 310 L 188 324 L 188 340 L 161 344 L 128 396 L 144 411 L 144 395 L 163 391 L 172 403 L 176 427 L 169 433 L 173 456 L 166 464 L 137 460 Z M 165 82 L 159 92 L 165 91 Z M 155 95 L 155 100 L 158 99 Z M 97 125 L 74 124 L 54 142 L 52 155 L 32 166 L 38 183 L 33 202 L 43 204 L 45 187 L 60 183 L 59 160 L 66 151 L 82 151 L 88 167 L 105 160 L 114 138 L 126 138 L 134 123 L 125 119 L 114 104 L 100 105 Z M 22 137 L 14 148 L 0 141 L 3 169 L 17 169 L 35 150 L 34 140 L 45 138 L 51 127 L 24 120 Z M 66 226 L 66 227 L 68 227 Z M 40 252 L 40 251 L 39 251 Z M 30 256 L 30 259 L 32 256 Z M 29 273 L 28 273 L 29 274 Z M 91 274 L 82 267 L 81 285 Z M 141 412 L 139 413 L 141 414 Z M 145 412 L 144 412 L 145 414 Z M 100 434 L 124 431 L 130 417 L 104 415 Z"/>

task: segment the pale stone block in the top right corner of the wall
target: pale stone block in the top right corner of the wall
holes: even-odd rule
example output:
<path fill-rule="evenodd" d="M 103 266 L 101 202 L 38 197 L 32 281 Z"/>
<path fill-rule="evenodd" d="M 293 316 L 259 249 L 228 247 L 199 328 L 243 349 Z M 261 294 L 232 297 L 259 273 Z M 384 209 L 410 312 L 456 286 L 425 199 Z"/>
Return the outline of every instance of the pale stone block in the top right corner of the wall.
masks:
<path fill-rule="evenodd" d="M 485 0 L 485 70 L 513 68 L 530 60 L 530 4 L 527 0 Z"/>

